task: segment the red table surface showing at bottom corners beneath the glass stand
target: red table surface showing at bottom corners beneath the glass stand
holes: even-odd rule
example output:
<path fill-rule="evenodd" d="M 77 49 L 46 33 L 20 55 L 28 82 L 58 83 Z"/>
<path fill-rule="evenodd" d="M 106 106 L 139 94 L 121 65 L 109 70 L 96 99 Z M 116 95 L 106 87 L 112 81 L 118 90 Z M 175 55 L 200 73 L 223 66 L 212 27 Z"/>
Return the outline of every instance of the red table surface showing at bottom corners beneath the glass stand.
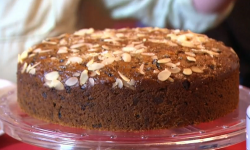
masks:
<path fill-rule="evenodd" d="M 26 144 L 23 142 L 20 142 L 16 139 L 13 139 L 12 137 L 8 136 L 7 134 L 4 134 L 0 136 L 0 150 L 46 150 L 45 148 L 33 146 L 30 144 Z M 246 142 L 241 142 L 239 144 L 222 148 L 220 150 L 246 150 Z"/>

